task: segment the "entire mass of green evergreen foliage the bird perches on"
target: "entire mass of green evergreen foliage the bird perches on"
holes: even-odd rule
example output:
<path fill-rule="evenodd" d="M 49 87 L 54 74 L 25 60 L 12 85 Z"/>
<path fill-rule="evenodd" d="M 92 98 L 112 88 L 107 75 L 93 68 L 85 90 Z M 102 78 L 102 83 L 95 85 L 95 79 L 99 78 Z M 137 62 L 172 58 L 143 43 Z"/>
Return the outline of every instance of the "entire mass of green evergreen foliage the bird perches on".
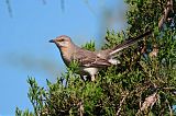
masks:
<path fill-rule="evenodd" d="M 101 70 L 95 82 L 85 82 L 75 74 L 76 61 L 55 83 L 47 80 L 47 90 L 29 78 L 34 113 L 16 108 L 16 116 L 176 115 L 176 32 L 170 24 L 162 32 L 157 27 L 166 0 L 127 0 L 127 3 L 129 28 L 122 33 L 107 31 L 102 49 L 148 28 L 154 33 L 124 49 L 119 57 L 121 65 Z M 94 51 L 95 43 L 82 48 Z"/>

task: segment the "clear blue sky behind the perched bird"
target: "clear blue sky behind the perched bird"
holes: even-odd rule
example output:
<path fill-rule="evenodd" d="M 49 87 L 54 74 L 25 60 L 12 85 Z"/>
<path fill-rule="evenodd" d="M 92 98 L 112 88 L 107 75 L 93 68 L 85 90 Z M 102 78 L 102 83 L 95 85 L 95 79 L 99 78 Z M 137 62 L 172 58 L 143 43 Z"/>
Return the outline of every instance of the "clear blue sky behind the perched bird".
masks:
<path fill-rule="evenodd" d="M 125 27 L 122 0 L 65 0 L 64 12 L 61 0 L 45 1 L 10 0 L 12 18 L 6 0 L 0 1 L 0 115 L 14 115 L 16 106 L 32 109 L 28 77 L 46 86 L 46 79 L 55 82 L 65 71 L 51 38 L 64 34 L 77 45 L 90 39 L 100 45 L 107 27 Z"/>

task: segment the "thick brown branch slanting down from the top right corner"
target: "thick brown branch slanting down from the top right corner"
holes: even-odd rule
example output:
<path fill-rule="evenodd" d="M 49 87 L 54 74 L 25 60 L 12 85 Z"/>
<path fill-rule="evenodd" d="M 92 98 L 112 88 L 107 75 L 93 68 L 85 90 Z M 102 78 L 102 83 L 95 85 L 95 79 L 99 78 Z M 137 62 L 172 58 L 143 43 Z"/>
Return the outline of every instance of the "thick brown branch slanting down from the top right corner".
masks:
<path fill-rule="evenodd" d="M 162 15 L 162 19 L 158 22 L 158 28 L 163 28 L 163 24 L 166 22 L 169 12 L 173 10 L 173 0 L 167 1 L 167 7 L 164 9 L 164 14 Z"/>

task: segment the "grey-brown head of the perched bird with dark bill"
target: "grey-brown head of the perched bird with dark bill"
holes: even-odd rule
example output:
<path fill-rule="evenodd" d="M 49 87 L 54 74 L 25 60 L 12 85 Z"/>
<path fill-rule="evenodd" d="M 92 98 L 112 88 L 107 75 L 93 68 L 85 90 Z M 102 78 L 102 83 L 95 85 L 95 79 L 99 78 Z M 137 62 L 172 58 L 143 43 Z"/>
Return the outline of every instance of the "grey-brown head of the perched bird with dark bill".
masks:
<path fill-rule="evenodd" d="M 70 37 L 66 35 L 62 35 L 54 39 L 51 39 L 50 43 L 55 43 L 58 47 L 69 47 L 72 44 L 72 40 L 70 40 Z"/>

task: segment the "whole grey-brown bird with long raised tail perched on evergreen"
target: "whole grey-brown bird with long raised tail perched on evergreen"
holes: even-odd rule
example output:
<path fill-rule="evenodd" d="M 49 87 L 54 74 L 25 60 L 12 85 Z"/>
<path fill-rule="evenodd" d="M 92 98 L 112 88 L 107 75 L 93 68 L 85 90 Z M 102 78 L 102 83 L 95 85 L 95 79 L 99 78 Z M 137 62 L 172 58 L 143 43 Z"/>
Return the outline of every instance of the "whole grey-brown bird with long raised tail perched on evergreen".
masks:
<path fill-rule="evenodd" d="M 99 51 L 82 49 L 75 45 L 70 37 L 66 35 L 51 39 L 50 43 L 54 43 L 58 47 L 61 56 L 67 67 L 73 60 L 78 61 L 80 68 L 79 73 L 81 76 L 90 76 L 90 80 L 94 81 L 95 76 L 100 69 L 119 63 L 119 61 L 113 58 L 118 51 L 133 45 L 138 40 L 142 39 L 142 37 L 151 33 L 151 31 L 145 32 L 138 37 L 130 38 L 122 44 L 117 45 L 114 48 Z"/>

